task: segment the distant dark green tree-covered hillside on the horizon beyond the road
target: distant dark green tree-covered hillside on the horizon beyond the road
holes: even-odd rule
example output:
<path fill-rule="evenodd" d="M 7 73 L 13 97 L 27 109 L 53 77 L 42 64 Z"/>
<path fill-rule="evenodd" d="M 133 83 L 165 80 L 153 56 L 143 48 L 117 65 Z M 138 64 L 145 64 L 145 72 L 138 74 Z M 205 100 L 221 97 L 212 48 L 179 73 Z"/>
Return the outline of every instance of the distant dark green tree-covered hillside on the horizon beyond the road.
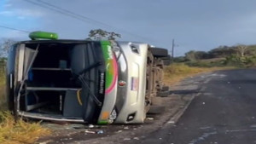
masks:
<path fill-rule="evenodd" d="M 191 50 L 174 58 L 174 62 L 197 67 L 253 67 L 256 66 L 256 45 L 219 46 L 207 52 Z"/>

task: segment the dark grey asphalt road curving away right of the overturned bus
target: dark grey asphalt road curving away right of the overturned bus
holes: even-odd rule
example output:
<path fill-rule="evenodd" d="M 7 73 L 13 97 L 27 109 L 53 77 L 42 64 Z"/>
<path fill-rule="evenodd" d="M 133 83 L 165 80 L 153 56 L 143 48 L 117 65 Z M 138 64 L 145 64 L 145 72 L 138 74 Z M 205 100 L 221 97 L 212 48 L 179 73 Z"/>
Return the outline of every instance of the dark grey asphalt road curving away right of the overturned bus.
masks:
<path fill-rule="evenodd" d="M 177 124 L 131 143 L 256 143 L 256 69 L 213 72 L 190 82 L 199 85 L 197 96 Z"/>

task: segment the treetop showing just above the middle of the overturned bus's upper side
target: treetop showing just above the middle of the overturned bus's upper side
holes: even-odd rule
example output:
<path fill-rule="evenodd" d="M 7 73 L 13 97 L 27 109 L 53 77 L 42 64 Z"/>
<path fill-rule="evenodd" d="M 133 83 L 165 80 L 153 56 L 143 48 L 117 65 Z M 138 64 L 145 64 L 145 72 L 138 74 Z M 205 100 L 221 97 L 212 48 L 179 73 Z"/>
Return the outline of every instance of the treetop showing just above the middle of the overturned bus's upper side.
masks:
<path fill-rule="evenodd" d="M 119 33 L 107 32 L 102 29 L 96 29 L 96 30 L 90 30 L 87 39 L 90 39 L 90 40 L 101 40 L 101 39 L 115 40 L 118 37 L 121 37 L 121 35 Z"/>

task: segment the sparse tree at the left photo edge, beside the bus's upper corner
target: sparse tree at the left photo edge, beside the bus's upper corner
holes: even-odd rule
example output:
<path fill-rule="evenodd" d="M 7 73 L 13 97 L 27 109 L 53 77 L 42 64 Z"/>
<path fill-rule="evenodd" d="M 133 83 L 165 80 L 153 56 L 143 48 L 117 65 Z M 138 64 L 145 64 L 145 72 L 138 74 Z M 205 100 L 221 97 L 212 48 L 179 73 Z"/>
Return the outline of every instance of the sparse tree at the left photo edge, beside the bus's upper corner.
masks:
<path fill-rule="evenodd" d="M 9 48 L 15 44 L 15 40 L 13 39 L 3 39 L 2 43 L 0 43 L 0 57 L 5 58 L 8 55 Z"/>

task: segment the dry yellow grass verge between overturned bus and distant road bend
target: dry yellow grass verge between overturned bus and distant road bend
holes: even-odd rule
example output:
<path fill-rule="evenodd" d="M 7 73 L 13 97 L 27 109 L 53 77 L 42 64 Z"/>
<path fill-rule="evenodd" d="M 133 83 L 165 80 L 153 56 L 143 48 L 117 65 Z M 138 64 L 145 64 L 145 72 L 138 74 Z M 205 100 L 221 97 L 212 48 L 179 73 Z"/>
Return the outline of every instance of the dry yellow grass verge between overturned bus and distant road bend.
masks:
<path fill-rule="evenodd" d="M 187 66 L 182 63 L 179 63 L 179 64 L 175 63 L 165 68 L 164 83 L 166 85 L 174 85 L 180 82 L 183 78 L 192 77 L 199 73 L 213 72 L 218 70 L 226 70 L 226 69 L 234 69 L 234 68 L 235 67 L 232 67 L 232 66 L 195 67 L 195 66 Z"/>

